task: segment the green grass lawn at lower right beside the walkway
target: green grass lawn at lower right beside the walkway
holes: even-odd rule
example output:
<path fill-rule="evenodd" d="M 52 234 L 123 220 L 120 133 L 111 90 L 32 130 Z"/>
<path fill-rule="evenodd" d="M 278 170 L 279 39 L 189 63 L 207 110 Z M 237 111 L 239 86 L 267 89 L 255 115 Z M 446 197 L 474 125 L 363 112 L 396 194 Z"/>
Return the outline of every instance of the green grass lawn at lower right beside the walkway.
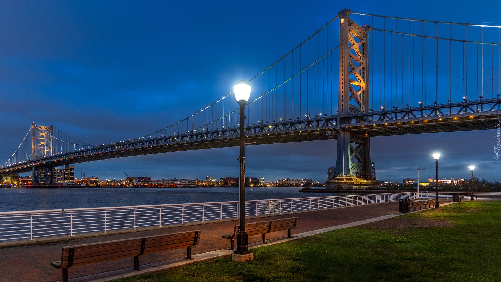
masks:
<path fill-rule="evenodd" d="M 352 227 L 115 282 L 501 281 L 501 202 L 461 202 L 389 219 L 453 227 Z"/>

